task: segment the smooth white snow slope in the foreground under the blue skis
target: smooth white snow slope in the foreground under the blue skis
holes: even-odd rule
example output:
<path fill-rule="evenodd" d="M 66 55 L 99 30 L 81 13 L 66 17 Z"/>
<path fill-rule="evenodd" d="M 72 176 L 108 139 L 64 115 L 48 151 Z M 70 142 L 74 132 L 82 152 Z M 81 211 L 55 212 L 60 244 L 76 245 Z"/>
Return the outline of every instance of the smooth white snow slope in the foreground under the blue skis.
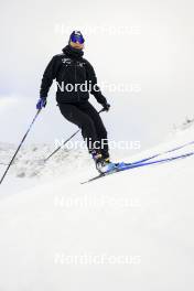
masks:
<path fill-rule="evenodd" d="M 192 140 L 193 126 L 126 160 Z M 62 166 L 2 194 L 0 290 L 193 290 L 193 168 L 191 157 L 80 185 L 95 169 Z"/>

